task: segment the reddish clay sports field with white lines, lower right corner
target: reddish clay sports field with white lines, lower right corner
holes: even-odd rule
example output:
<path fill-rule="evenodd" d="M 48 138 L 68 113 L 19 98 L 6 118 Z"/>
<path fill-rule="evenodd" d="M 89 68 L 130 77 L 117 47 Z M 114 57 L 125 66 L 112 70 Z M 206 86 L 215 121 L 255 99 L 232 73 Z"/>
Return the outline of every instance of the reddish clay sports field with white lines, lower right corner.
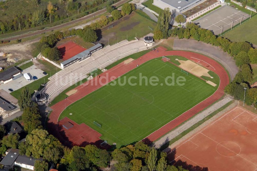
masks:
<path fill-rule="evenodd" d="M 257 115 L 236 106 L 171 149 L 170 161 L 189 170 L 256 170 Z"/>

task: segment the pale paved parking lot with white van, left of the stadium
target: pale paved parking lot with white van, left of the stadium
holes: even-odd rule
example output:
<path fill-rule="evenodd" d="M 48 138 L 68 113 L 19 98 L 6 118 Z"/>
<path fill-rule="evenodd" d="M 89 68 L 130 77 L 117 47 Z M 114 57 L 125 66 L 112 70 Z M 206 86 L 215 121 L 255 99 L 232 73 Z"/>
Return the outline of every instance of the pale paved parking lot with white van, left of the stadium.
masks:
<path fill-rule="evenodd" d="M 45 75 L 43 74 L 44 71 L 42 71 L 41 69 L 37 68 L 35 65 L 32 65 L 29 68 L 26 68 L 22 71 L 22 74 L 27 73 L 31 78 L 33 76 L 38 77 L 38 79 L 44 77 Z M 20 78 L 17 78 L 16 80 L 12 80 L 6 84 L 1 84 L 0 85 L 0 89 L 5 90 L 8 93 L 11 93 L 8 89 L 13 89 L 13 91 L 18 90 L 26 85 L 28 85 L 29 83 L 31 83 L 31 81 L 27 81 L 23 76 Z"/>

